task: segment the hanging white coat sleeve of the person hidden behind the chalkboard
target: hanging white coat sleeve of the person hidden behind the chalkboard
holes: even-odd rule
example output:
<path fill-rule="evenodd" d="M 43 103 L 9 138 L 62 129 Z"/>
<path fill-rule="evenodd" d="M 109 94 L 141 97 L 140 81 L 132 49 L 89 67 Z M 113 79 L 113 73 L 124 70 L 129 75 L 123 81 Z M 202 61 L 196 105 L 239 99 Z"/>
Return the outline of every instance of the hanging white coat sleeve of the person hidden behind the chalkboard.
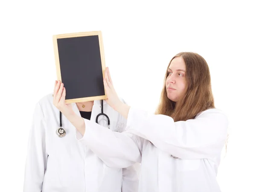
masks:
<path fill-rule="evenodd" d="M 39 103 L 35 106 L 29 132 L 23 192 L 41 192 L 47 166 L 45 148 L 46 122 Z"/>

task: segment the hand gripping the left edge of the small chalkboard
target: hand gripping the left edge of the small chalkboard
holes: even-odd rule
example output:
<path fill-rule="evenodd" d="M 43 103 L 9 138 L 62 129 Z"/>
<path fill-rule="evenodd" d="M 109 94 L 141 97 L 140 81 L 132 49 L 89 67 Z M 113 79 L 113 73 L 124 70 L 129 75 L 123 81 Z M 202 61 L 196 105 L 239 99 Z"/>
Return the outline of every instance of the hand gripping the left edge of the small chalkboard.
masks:
<path fill-rule="evenodd" d="M 60 80 L 55 81 L 54 91 L 53 91 L 53 105 L 58 108 L 61 113 L 66 117 L 73 114 L 71 103 L 65 103 L 66 89 L 64 84 Z"/>

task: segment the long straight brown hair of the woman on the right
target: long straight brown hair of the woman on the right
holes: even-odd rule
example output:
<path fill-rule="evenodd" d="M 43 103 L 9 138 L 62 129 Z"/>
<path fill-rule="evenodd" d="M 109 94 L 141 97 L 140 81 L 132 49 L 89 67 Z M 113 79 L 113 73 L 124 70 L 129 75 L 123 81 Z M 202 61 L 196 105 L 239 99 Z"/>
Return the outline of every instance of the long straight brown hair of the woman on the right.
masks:
<path fill-rule="evenodd" d="M 186 64 L 186 89 L 179 101 L 173 102 L 167 97 L 166 78 L 168 68 L 175 57 L 182 57 Z M 171 116 L 174 121 L 186 121 L 209 108 L 215 108 L 212 95 L 211 77 L 205 59 L 193 52 L 180 52 L 169 62 L 156 114 Z"/>

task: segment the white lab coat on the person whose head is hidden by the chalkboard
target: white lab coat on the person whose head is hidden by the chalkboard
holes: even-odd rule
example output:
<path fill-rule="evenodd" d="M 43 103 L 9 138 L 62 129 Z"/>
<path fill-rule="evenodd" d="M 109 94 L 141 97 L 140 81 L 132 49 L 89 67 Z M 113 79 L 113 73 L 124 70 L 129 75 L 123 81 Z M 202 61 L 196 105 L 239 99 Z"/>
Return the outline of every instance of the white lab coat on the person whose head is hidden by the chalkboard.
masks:
<path fill-rule="evenodd" d="M 79 116 L 76 103 L 73 110 Z M 104 113 L 113 131 L 124 131 L 126 119 L 104 101 Z M 91 121 L 101 113 L 100 100 L 94 101 Z M 105 118 L 99 117 L 99 120 Z M 101 121 L 100 123 L 104 123 Z M 29 135 L 24 192 L 137 192 L 138 175 L 134 166 L 110 168 L 89 148 L 76 140 L 81 137 L 62 114 L 65 137 L 58 137 L 59 110 L 53 105 L 52 93 L 35 107 Z M 108 129 L 108 128 L 106 128 Z M 137 166 L 139 169 L 139 167 Z"/>

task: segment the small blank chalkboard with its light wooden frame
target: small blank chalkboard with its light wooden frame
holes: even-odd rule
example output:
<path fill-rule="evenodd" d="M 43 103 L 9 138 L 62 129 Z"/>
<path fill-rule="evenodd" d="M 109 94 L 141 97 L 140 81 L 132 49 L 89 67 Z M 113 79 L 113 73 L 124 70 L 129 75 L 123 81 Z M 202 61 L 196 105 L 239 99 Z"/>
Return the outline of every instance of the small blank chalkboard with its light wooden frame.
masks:
<path fill-rule="evenodd" d="M 66 88 L 66 103 L 107 99 L 100 31 L 53 35 L 53 46 L 57 79 Z"/>

